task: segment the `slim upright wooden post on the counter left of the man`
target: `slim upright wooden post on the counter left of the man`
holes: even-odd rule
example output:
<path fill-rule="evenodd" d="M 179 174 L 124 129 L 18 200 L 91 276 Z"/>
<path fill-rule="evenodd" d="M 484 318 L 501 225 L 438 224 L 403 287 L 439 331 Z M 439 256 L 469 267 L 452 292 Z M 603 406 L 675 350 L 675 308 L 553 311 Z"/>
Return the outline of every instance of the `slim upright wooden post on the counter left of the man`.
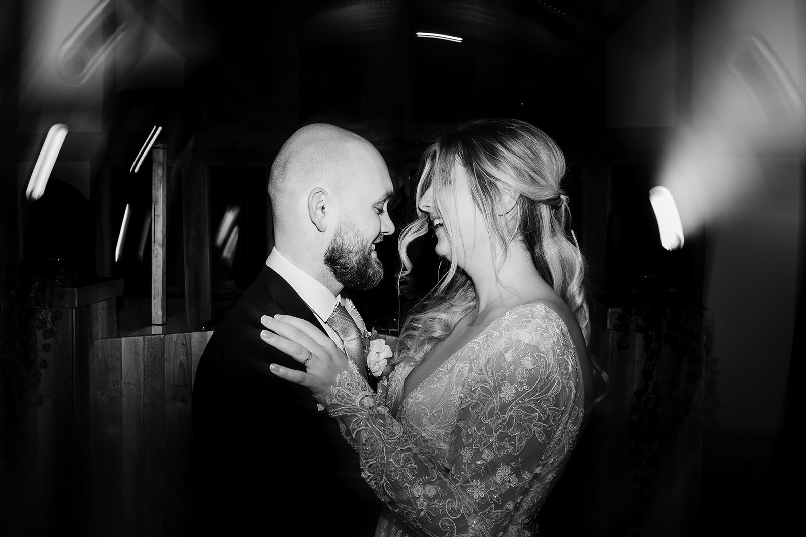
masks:
<path fill-rule="evenodd" d="M 163 143 L 152 148 L 152 324 L 165 324 L 165 226 L 168 174 Z"/>

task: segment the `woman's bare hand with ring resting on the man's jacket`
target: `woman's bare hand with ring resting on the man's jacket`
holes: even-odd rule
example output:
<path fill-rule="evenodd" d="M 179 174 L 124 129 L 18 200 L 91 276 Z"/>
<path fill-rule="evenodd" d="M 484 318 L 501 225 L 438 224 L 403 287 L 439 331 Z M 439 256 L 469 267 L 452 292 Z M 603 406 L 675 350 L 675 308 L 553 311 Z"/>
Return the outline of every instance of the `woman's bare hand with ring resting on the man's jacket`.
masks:
<path fill-rule="evenodd" d="M 335 378 L 347 370 L 349 358 L 322 330 L 308 321 L 289 315 L 264 315 L 260 322 L 268 328 L 260 339 L 305 366 L 305 372 L 272 364 L 269 370 L 280 378 L 307 387 L 324 402 Z"/>

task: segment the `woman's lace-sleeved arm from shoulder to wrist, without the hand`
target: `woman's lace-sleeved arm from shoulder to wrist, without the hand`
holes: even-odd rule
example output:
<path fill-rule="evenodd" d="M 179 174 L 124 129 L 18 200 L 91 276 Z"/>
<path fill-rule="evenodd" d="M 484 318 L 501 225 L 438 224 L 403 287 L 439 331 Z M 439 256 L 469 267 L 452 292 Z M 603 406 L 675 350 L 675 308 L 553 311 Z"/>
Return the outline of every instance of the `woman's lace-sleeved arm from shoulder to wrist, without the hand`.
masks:
<path fill-rule="evenodd" d="M 354 366 L 320 399 L 358 450 L 364 479 L 428 535 L 498 535 L 546 448 L 564 456 L 572 447 L 582 417 L 575 354 L 570 340 L 536 330 L 542 320 L 532 313 L 502 324 L 472 359 L 456 386 L 461 411 L 447 456 L 394 419 Z"/>

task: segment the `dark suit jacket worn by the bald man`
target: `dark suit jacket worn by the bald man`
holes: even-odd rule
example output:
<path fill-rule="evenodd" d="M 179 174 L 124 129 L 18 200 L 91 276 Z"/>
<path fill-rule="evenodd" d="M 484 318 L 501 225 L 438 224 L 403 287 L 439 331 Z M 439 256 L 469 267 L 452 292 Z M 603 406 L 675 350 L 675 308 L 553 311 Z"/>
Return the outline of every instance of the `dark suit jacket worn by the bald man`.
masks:
<path fill-rule="evenodd" d="M 309 390 L 268 370 L 271 363 L 303 370 L 260 339 L 260 317 L 276 313 L 321 328 L 293 288 L 264 266 L 199 361 L 192 399 L 197 529 L 373 535 L 380 500 L 360 477 L 357 453 Z"/>

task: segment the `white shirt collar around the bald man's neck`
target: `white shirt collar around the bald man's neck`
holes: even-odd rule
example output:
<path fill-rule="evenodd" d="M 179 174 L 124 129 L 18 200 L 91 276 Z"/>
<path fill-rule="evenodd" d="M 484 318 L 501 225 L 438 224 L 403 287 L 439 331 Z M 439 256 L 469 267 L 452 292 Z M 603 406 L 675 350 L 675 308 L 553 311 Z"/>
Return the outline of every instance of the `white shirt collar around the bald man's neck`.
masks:
<path fill-rule="evenodd" d="M 305 301 L 305 304 L 308 304 L 308 307 L 314 312 L 319 323 L 322 324 L 322 328 L 325 328 L 325 332 L 330 339 L 338 345 L 339 349 L 344 350 L 342 338 L 339 337 L 339 334 L 335 333 L 333 328 L 330 328 L 330 324 L 327 324 L 327 320 L 330 318 L 330 314 L 333 313 L 337 303 L 340 302 L 347 308 L 347 312 L 349 312 L 353 320 L 355 320 L 355 324 L 358 324 L 358 328 L 362 333 L 366 331 L 364 320 L 361 319 L 359 312 L 349 299 L 343 299 L 341 294 L 334 296 L 333 293 L 330 292 L 330 289 L 322 285 L 318 279 L 315 279 L 300 267 L 294 265 L 293 262 L 290 262 L 283 254 L 280 254 L 276 248 L 272 248 L 271 253 L 268 254 L 266 265 L 272 269 L 272 271 L 280 275 L 282 279 L 285 279 L 286 283 L 288 283 L 294 291 L 297 291 L 297 295 L 300 295 L 300 298 Z"/>

